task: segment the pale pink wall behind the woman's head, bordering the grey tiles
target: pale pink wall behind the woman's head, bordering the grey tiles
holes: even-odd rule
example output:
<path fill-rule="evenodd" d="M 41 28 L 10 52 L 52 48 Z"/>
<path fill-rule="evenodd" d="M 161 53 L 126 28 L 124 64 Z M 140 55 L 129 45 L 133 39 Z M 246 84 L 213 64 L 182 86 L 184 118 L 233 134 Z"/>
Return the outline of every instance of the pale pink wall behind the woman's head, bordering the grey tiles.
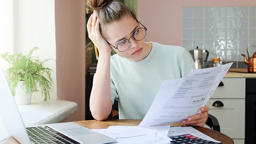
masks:
<path fill-rule="evenodd" d="M 138 0 L 147 41 L 182 46 L 182 7 L 256 6 L 256 0 Z"/>

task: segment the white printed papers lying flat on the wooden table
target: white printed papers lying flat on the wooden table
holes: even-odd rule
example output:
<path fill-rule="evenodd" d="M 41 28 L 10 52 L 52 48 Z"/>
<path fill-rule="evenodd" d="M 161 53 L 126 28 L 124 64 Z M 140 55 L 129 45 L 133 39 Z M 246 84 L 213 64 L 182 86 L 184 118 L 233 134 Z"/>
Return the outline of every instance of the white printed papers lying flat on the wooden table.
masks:
<path fill-rule="evenodd" d="M 170 139 L 169 136 L 178 136 L 182 134 L 191 134 L 201 139 L 221 143 L 220 141 L 214 140 L 206 134 L 199 132 L 191 126 L 109 126 L 108 129 L 92 130 L 116 139 L 117 141 L 113 144 L 170 144 L 172 139 Z"/>

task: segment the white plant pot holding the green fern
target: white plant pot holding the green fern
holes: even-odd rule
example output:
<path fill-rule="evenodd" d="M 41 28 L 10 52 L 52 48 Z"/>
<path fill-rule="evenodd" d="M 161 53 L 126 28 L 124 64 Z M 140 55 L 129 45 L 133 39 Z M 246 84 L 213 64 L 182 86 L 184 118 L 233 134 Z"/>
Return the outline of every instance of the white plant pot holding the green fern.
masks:
<path fill-rule="evenodd" d="M 26 94 L 26 87 L 23 86 L 23 81 L 18 83 L 16 94 L 14 96 L 17 105 L 30 105 L 32 91 Z"/>

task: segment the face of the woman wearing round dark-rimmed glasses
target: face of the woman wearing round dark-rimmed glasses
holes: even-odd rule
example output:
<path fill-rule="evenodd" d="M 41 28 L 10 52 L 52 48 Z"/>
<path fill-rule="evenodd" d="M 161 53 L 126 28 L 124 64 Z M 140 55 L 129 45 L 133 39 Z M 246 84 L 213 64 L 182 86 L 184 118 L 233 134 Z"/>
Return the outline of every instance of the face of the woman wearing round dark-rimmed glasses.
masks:
<path fill-rule="evenodd" d="M 136 29 L 140 28 L 139 23 L 133 19 L 131 16 L 125 16 L 121 20 L 114 22 L 108 26 L 107 35 L 108 42 L 117 47 L 117 43 L 121 39 L 129 39 L 130 46 L 125 52 L 120 52 L 113 48 L 114 51 L 121 57 L 127 58 L 130 61 L 141 61 L 148 56 L 151 47 L 146 44 L 144 39 L 141 41 L 136 41 L 133 39 L 132 35 Z"/>

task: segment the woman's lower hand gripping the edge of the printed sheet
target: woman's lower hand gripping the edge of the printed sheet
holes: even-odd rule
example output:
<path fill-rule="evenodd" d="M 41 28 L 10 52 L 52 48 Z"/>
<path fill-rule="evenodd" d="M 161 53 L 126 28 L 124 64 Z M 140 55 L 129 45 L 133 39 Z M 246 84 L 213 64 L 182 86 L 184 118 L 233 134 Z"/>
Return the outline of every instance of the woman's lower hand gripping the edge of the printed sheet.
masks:
<path fill-rule="evenodd" d="M 208 119 L 209 107 L 204 106 L 200 110 L 199 114 L 192 115 L 187 120 L 183 120 L 183 124 L 203 127 Z"/>

